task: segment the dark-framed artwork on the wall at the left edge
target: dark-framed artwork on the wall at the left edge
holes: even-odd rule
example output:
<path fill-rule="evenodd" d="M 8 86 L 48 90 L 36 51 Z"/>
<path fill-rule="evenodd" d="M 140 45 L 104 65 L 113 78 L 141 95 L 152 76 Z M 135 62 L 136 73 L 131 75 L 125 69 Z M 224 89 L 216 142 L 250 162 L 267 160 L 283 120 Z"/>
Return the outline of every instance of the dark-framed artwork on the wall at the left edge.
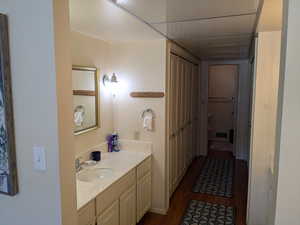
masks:
<path fill-rule="evenodd" d="M 0 14 L 0 193 L 18 193 L 7 17 Z"/>

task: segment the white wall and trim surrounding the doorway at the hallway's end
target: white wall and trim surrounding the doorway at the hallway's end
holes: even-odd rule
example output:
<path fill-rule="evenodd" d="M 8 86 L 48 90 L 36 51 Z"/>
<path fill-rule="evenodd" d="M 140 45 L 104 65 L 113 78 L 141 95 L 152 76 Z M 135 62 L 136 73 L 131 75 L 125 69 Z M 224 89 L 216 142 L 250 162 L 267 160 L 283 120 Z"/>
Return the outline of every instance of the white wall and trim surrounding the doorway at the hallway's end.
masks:
<path fill-rule="evenodd" d="M 237 112 L 237 137 L 236 137 L 236 157 L 248 160 L 249 157 L 249 95 L 250 95 L 250 74 L 248 60 L 218 60 L 202 61 L 201 64 L 201 155 L 207 154 L 207 97 L 208 97 L 208 68 L 214 64 L 237 64 L 239 66 L 239 88 L 238 88 L 238 112 Z"/>

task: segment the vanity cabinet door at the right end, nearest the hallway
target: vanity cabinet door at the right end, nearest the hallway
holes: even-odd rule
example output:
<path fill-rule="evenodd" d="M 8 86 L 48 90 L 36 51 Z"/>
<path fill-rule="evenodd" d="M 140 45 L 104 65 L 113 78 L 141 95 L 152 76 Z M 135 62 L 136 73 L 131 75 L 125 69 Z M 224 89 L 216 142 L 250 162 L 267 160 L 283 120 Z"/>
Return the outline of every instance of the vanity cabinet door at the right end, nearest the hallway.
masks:
<path fill-rule="evenodd" d="M 137 182 L 137 222 L 151 208 L 151 172 Z"/>

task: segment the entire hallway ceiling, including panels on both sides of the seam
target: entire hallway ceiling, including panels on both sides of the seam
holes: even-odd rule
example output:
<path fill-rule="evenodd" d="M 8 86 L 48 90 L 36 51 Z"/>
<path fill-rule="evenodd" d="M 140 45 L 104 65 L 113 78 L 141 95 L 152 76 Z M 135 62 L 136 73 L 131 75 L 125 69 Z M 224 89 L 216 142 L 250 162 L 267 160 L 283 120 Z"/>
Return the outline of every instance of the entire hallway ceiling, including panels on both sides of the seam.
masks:
<path fill-rule="evenodd" d="M 112 0 L 200 58 L 246 58 L 259 0 Z"/>

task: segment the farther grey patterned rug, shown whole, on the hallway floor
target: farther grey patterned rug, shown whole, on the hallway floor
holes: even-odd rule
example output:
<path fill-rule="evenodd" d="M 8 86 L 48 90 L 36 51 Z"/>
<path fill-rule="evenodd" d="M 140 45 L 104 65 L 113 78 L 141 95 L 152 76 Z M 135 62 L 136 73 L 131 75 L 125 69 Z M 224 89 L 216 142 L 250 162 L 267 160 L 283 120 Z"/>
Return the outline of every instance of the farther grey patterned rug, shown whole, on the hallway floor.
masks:
<path fill-rule="evenodd" d="M 232 197 L 234 160 L 207 158 L 193 192 Z"/>

